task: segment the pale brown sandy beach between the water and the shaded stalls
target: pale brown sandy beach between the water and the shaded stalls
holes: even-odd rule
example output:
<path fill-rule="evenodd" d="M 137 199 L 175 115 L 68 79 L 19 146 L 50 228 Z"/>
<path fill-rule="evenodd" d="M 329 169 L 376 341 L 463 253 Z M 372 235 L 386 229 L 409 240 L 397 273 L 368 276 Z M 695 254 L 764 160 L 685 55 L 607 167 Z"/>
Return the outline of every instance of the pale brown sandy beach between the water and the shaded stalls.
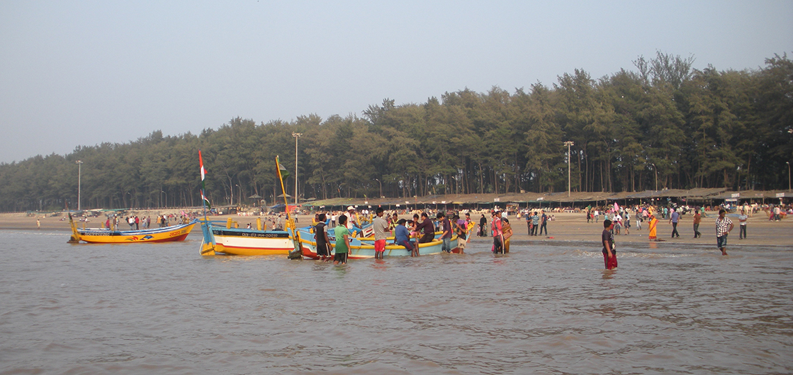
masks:
<path fill-rule="evenodd" d="M 151 211 L 137 211 L 132 212 L 136 215 L 151 215 L 156 214 L 178 213 L 178 210 L 151 210 Z M 548 235 L 547 236 L 534 236 L 527 235 L 528 228 L 523 219 L 517 219 L 514 216 L 510 217 L 510 222 L 515 235 L 512 237 L 512 244 L 523 244 L 524 242 L 573 242 L 585 241 L 591 242 L 593 246 L 597 246 L 600 242 L 600 233 L 603 231 L 603 222 L 589 222 L 587 223 L 584 214 L 568 214 L 568 213 L 554 213 L 556 220 L 548 222 Z M 481 214 L 472 214 L 472 219 L 475 222 L 479 221 Z M 661 220 L 658 222 L 658 239 L 662 240 L 664 244 L 695 244 L 697 246 L 715 246 L 715 227 L 714 220 L 716 214 L 708 213 L 707 218 L 703 218 L 702 223 L 699 225 L 699 232 L 703 233 L 700 238 L 694 238 L 694 231 L 691 225 L 691 216 L 685 215 L 677 225 L 677 230 L 680 233 L 680 238 L 671 238 L 672 224 L 668 220 Z M 23 230 L 63 230 L 69 231 L 68 220 L 61 220 L 63 216 L 27 216 L 24 213 L 15 214 L 0 214 L 0 229 L 23 229 Z M 240 227 L 244 227 L 247 223 L 255 225 L 256 217 L 253 216 L 237 216 L 221 215 L 211 217 L 213 220 L 227 220 L 232 218 L 239 222 Z M 408 215 L 401 215 L 400 218 L 408 218 Z M 489 222 L 489 215 L 486 215 Z M 36 219 L 40 220 L 40 228 L 36 226 Z M 299 215 L 298 225 L 305 225 L 310 223 L 312 217 L 308 215 Z M 768 217 L 759 212 L 754 214 L 748 220 L 747 227 L 748 238 L 744 240 L 738 239 L 738 222 L 737 218 L 731 217 L 735 224 L 735 228 L 730 232 L 730 243 L 728 248 L 735 247 L 751 247 L 751 246 L 793 246 L 793 221 L 785 219 L 780 222 L 769 222 Z M 98 227 L 100 220 L 104 218 L 90 218 L 86 227 Z M 80 222 L 79 226 L 82 227 L 84 223 Z M 638 230 L 634 227 L 630 229 L 630 234 L 615 236 L 615 241 L 620 242 L 635 242 L 635 243 L 649 243 L 647 222 L 644 222 L 642 227 L 644 229 Z M 623 230 L 624 233 L 624 230 Z M 64 233 L 64 237 L 67 236 Z M 491 241 L 488 237 L 474 236 L 471 241 Z M 654 243 L 653 243 L 654 244 Z"/>

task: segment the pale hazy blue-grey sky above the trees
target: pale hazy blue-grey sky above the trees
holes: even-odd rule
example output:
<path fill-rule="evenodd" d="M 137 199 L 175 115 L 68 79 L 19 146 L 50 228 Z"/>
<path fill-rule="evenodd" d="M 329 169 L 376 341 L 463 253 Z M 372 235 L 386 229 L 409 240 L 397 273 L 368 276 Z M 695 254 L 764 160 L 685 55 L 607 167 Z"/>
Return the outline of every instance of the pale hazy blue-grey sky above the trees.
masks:
<path fill-rule="evenodd" d="M 793 1 L 0 2 L 0 162 L 509 92 L 639 55 L 757 69 L 793 53 Z"/>

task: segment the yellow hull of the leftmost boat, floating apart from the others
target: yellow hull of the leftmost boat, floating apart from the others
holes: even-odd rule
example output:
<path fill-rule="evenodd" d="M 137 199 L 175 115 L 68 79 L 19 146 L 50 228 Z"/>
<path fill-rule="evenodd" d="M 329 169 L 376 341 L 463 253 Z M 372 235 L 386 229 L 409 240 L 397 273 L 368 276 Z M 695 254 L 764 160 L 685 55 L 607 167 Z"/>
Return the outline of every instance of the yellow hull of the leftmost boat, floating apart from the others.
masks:
<path fill-rule="evenodd" d="M 142 230 L 77 229 L 77 240 L 89 244 L 136 244 L 184 241 L 197 221 L 166 228 Z"/>

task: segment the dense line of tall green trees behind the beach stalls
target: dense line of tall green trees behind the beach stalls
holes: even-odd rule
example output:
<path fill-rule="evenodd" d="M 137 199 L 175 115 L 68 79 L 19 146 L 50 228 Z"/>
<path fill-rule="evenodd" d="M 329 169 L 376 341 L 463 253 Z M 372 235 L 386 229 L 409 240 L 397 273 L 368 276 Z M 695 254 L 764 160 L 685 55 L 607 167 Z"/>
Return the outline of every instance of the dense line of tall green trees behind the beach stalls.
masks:
<path fill-rule="evenodd" d="M 83 208 L 197 206 L 198 150 L 214 205 L 272 203 L 274 157 L 294 170 L 293 132 L 303 198 L 565 191 L 565 141 L 574 191 L 787 188 L 793 62 L 775 55 L 761 69 L 718 71 L 692 61 L 658 53 L 635 70 L 599 79 L 575 70 L 552 87 L 464 89 L 423 104 L 386 99 L 360 117 L 236 118 L 198 135 L 79 146 L 0 164 L 0 210 L 76 207 L 77 160 Z"/>

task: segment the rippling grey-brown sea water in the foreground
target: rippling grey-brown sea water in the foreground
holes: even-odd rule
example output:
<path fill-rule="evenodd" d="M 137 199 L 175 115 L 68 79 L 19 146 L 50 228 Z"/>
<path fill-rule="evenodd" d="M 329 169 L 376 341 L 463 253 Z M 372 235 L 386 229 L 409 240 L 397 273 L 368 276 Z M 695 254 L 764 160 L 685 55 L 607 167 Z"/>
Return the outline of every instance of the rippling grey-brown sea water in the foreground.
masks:
<path fill-rule="evenodd" d="M 201 258 L 0 231 L 0 373 L 791 373 L 793 248 Z"/>

